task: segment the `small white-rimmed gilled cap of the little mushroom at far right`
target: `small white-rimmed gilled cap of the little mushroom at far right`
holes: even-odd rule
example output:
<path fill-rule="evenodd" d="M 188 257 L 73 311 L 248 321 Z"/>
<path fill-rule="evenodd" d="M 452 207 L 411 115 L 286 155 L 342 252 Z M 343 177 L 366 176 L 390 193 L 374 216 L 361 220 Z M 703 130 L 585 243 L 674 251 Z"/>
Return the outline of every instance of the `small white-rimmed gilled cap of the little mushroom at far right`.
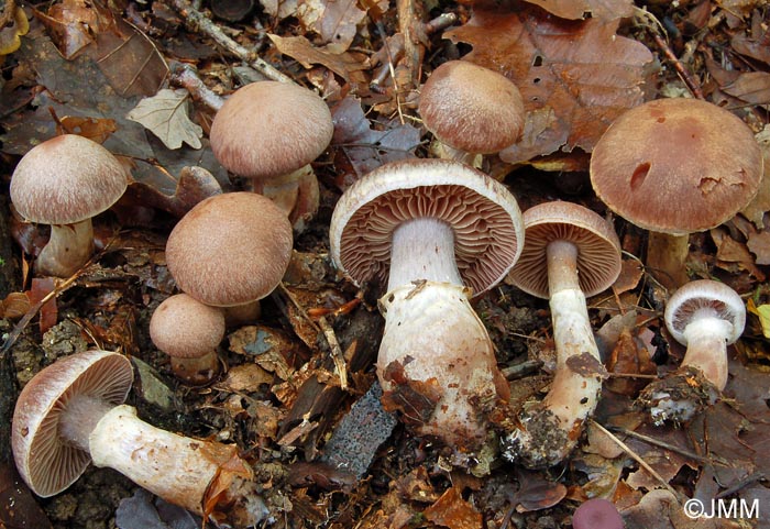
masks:
<path fill-rule="evenodd" d="M 684 329 L 698 318 L 702 309 L 728 323 L 725 327 L 728 344 L 740 338 L 746 324 L 746 307 L 738 293 L 724 283 L 698 279 L 680 287 L 666 304 L 666 327 L 674 340 L 688 344 Z"/>

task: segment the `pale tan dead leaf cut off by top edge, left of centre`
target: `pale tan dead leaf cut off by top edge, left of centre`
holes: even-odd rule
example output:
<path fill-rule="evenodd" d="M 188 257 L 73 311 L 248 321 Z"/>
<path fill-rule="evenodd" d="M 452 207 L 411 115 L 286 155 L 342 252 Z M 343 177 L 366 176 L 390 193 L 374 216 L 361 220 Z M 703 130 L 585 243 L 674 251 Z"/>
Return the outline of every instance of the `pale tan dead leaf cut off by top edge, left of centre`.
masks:
<path fill-rule="evenodd" d="M 350 47 L 365 15 L 356 0 L 300 0 L 297 4 L 297 18 L 302 25 L 318 33 L 328 45 L 327 51 L 333 54 Z"/>

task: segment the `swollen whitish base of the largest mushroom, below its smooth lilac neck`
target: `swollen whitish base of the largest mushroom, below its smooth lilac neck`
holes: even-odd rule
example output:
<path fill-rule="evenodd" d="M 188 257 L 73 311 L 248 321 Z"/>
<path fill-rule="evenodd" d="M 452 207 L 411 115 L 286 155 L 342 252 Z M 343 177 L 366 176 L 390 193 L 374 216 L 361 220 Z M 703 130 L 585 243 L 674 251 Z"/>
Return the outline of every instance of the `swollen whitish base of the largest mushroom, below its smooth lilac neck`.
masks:
<path fill-rule="evenodd" d="M 385 330 L 377 359 L 383 406 L 418 434 L 460 452 L 487 440 L 487 415 L 509 397 L 468 289 L 416 282 L 380 300 Z"/>

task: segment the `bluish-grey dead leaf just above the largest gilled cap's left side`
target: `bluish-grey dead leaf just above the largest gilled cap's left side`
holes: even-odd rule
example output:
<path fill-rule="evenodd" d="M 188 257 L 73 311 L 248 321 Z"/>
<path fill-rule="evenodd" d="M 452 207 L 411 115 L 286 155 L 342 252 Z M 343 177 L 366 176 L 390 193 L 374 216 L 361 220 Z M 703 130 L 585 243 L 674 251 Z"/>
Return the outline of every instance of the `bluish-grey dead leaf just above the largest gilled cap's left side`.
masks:
<path fill-rule="evenodd" d="M 344 189 L 361 176 L 386 162 L 415 156 L 420 131 L 410 124 L 391 122 L 375 130 L 364 115 L 361 101 L 346 97 L 331 109 L 337 146 L 337 185 Z"/>

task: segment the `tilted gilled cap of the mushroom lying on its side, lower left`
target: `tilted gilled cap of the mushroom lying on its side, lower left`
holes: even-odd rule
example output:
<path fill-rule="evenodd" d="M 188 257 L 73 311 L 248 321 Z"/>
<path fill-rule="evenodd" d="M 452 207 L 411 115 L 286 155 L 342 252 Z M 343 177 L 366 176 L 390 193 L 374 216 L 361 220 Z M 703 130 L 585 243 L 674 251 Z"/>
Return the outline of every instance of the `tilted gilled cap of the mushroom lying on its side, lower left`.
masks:
<path fill-rule="evenodd" d="M 42 497 L 72 485 L 90 454 L 59 439 L 59 417 L 76 395 L 120 405 L 131 389 L 133 368 L 123 355 L 87 351 L 57 361 L 37 373 L 19 395 L 11 443 L 19 473 Z"/>

